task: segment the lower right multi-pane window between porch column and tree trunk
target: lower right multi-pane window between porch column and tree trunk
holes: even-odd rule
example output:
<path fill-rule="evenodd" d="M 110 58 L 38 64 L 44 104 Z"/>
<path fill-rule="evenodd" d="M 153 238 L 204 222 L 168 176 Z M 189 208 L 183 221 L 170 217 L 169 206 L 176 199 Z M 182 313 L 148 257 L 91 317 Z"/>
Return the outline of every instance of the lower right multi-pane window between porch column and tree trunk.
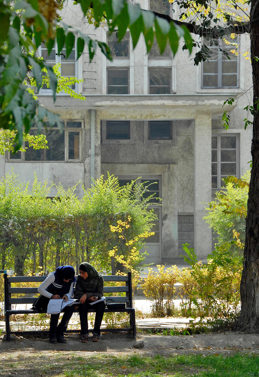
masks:
<path fill-rule="evenodd" d="M 238 136 L 218 135 L 211 138 L 211 185 L 224 187 L 222 178 L 238 175 Z"/>

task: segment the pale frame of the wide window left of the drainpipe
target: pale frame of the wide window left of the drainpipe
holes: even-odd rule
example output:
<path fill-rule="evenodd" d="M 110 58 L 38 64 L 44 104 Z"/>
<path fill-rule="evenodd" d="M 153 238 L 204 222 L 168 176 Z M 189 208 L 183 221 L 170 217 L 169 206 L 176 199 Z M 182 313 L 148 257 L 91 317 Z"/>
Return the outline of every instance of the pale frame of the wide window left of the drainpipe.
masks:
<path fill-rule="evenodd" d="M 21 152 L 21 158 L 10 158 L 10 152 L 8 152 L 8 162 L 26 162 L 26 163 L 52 163 L 52 162 L 83 162 L 83 130 L 84 130 L 84 122 L 81 119 L 66 119 L 62 120 L 64 123 L 64 159 L 63 160 L 26 160 L 25 159 L 25 153 L 26 152 Z M 80 122 L 81 127 L 67 127 L 67 122 Z M 37 127 L 32 127 L 32 131 L 36 130 L 38 131 Z M 47 127 L 47 130 L 60 130 L 58 127 Z M 69 157 L 69 132 L 79 132 L 79 159 L 68 159 Z M 43 134 L 46 134 L 45 129 L 42 132 Z M 23 146 L 25 146 L 25 143 L 23 143 Z M 46 158 L 46 149 L 43 150 L 45 153 L 45 158 Z"/>

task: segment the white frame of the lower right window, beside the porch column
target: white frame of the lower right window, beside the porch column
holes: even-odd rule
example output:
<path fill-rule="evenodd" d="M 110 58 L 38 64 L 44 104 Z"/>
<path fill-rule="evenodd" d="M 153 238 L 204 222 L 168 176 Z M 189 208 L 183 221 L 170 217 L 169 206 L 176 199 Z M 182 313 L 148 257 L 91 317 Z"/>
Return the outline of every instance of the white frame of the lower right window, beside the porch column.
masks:
<path fill-rule="evenodd" d="M 212 190 L 221 190 L 224 189 L 222 187 L 222 182 L 221 182 L 221 177 L 227 177 L 228 175 L 222 175 L 221 174 L 221 137 L 235 137 L 236 138 L 236 174 L 234 176 L 238 177 L 240 176 L 240 134 L 239 133 L 212 133 L 211 135 L 211 189 Z M 212 150 L 216 150 L 216 148 L 212 149 L 212 138 L 216 137 L 217 138 L 217 161 L 212 161 Z M 228 148 L 228 150 L 234 150 L 234 148 Z M 228 161 L 223 161 L 228 163 Z M 229 161 L 229 163 L 233 163 L 233 161 Z M 217 164 L 217 175 L 212 174 L 212 164 L 216 163 Z M 217 177 L 217 187 L 212 187 L 212 177 Z"/>

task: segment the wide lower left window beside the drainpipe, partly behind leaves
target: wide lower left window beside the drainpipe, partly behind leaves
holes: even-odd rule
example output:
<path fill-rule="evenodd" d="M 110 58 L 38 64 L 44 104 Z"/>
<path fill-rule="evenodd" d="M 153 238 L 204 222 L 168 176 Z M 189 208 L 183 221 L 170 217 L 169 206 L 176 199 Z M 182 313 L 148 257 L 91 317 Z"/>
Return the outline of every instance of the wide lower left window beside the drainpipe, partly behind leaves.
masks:
<path fill-rule="evenodd" d="M 82 122 L 81 121 L 63 121 L 63 130 L 57 127 L 43 130 L 46 134 L 49 149 L 35 150 L 28 147 L 26 152 L 17 152 L 10 155 L 10 159 L 21 161 L 81 161 L 82 160 Z M 38 130 L 32 127 L 30 131 L 33 135 L 38 134 Z"/>

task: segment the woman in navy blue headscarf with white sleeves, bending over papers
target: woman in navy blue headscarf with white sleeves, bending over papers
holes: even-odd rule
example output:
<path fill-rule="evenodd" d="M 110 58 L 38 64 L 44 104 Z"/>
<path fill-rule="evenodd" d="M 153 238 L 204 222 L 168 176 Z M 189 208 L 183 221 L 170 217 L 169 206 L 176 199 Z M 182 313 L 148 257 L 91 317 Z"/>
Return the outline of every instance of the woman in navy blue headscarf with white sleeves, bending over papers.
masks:
<path fill-rule="evenodd" d="M 73 294 L 73 286 L 75 282 L 75 270 L 72 266 L 60 266 L 55 272 L 49 276 L 38 287 L 38 293 L 41 296 L 35 302 L 33 307 L 37 310 L 46 310 L 50 299 L 64 299 L 67 301 Z M 63 317 L 58 325 L 59 313 L 51 314 L 49 324 L 49 342 L 50 343 L 66 343 L 64 331 L 67 329 L 69 319 L 74 311 L 73 306 L 64 308 Z"/>

